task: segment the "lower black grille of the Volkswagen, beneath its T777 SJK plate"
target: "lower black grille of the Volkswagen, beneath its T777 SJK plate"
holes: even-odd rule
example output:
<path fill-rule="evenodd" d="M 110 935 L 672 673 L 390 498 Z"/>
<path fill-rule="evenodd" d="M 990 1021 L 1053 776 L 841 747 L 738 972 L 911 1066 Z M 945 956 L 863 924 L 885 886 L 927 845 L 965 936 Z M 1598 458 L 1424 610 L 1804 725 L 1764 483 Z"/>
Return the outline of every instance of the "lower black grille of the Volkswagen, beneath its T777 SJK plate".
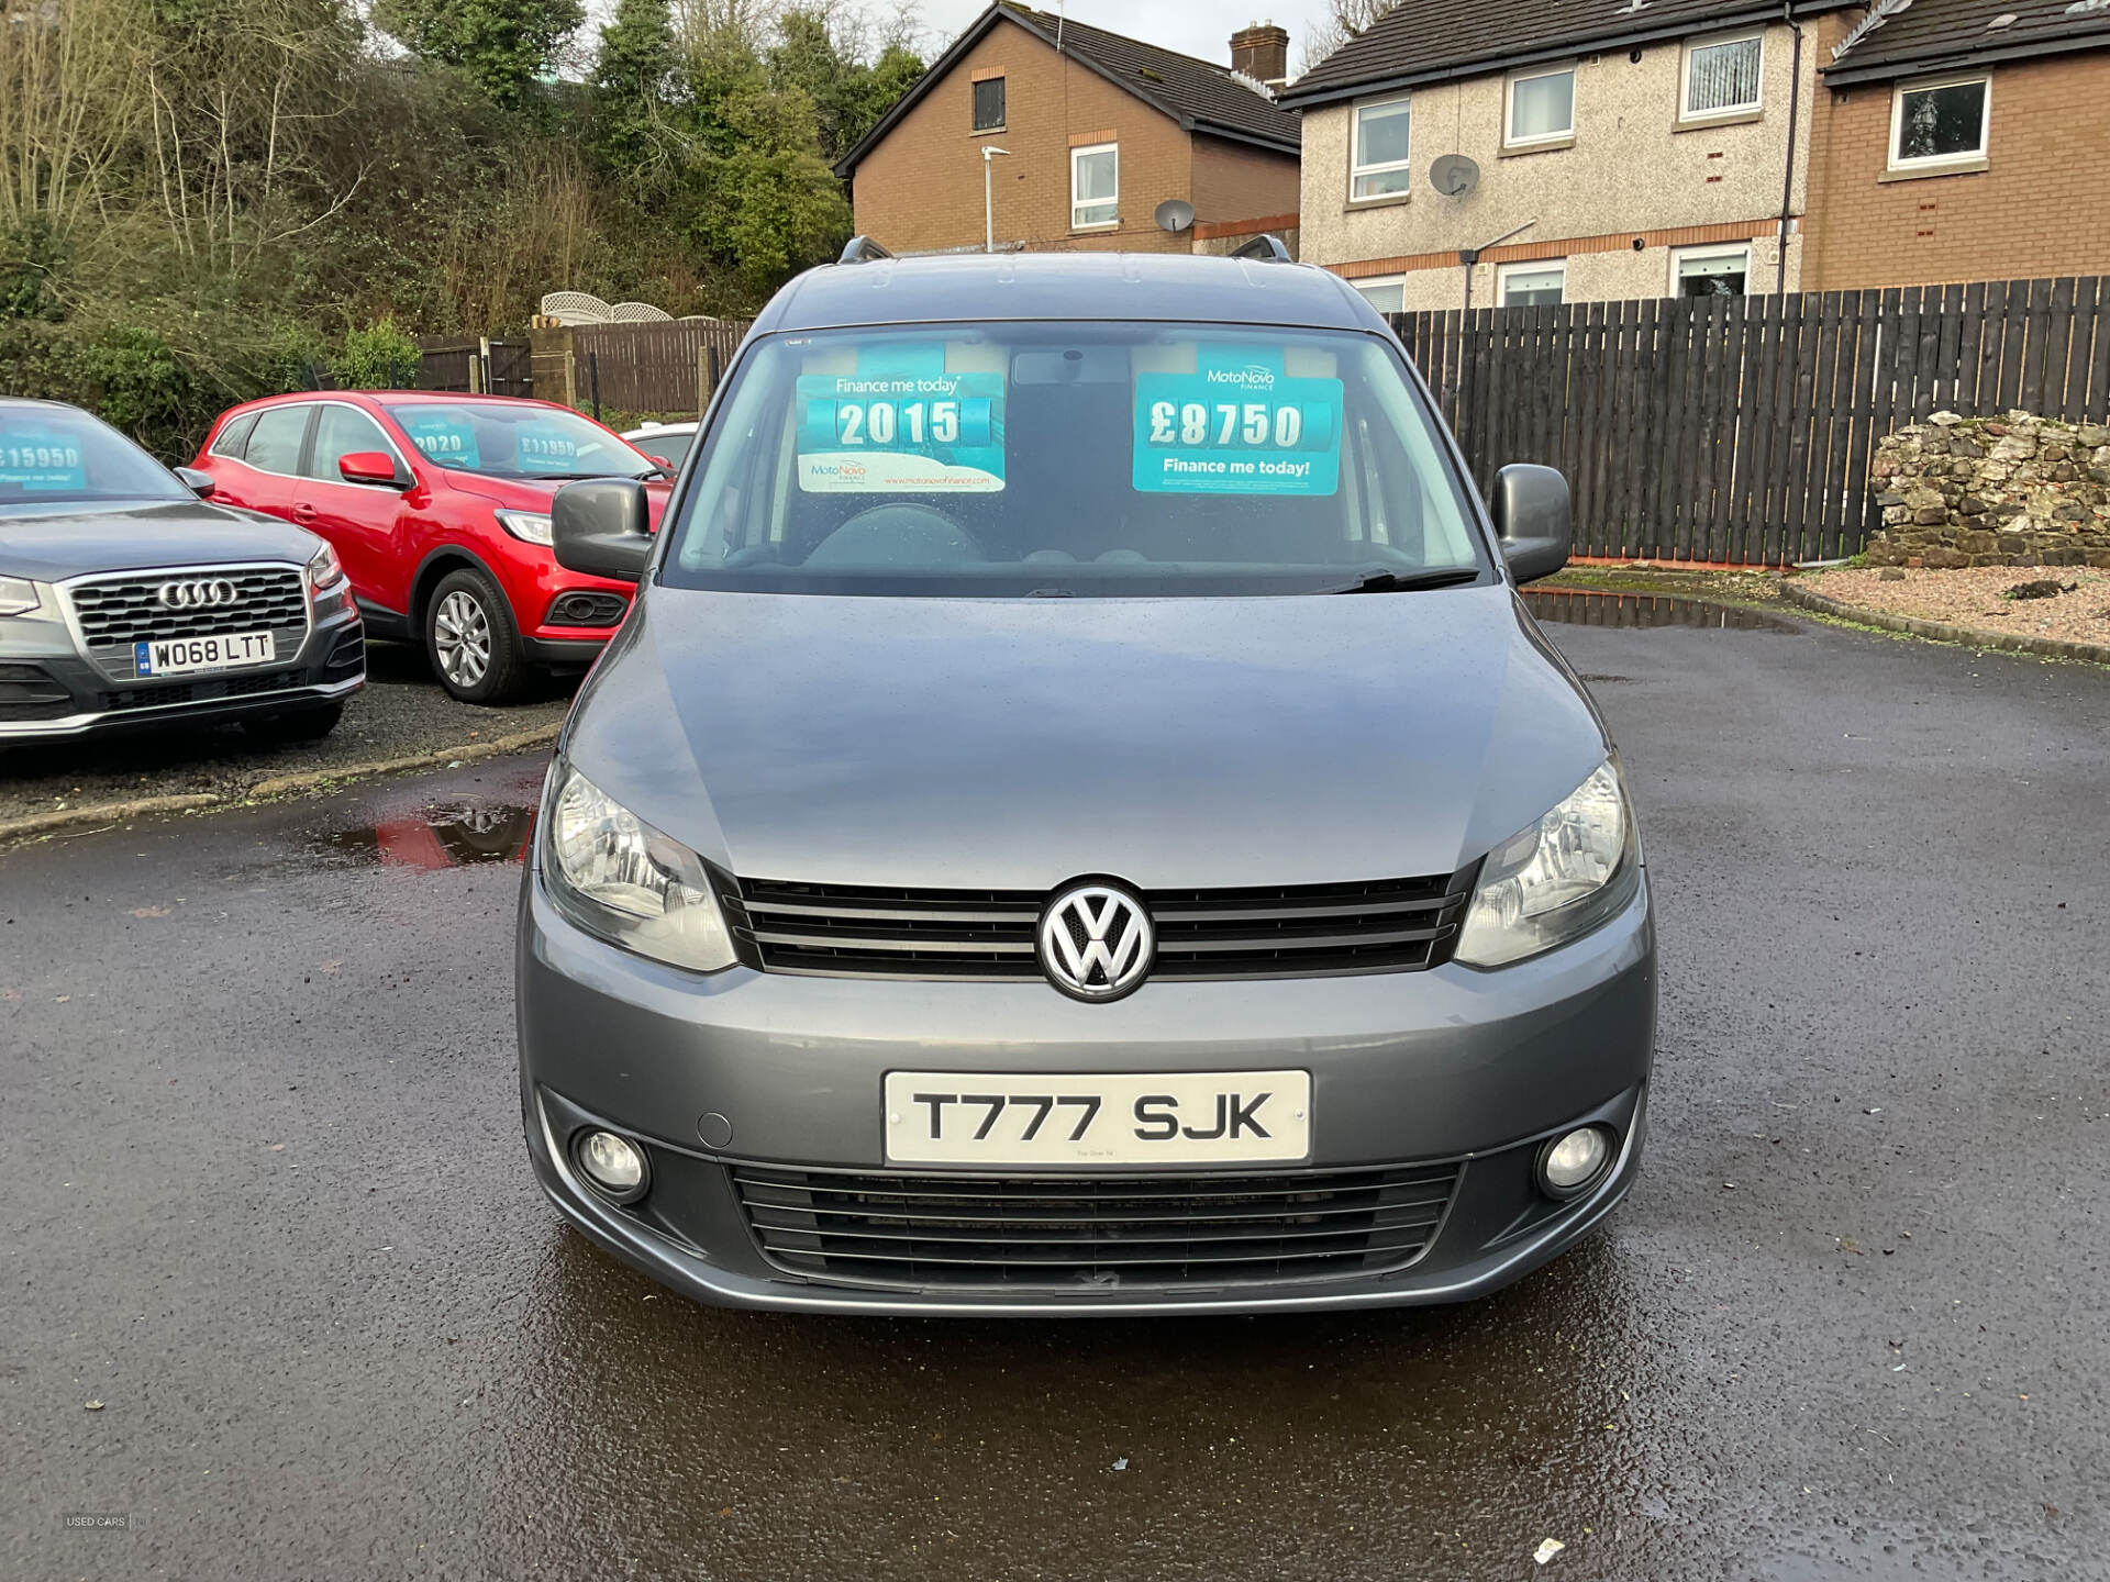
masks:
<path fill-rule="evenodd" d="M 1106 1291 L 1340 1280 L 1435 1240 L 1458 1164 L 987 1177 L 734 1164 L 762 1255 L 852 1285 Z"/>

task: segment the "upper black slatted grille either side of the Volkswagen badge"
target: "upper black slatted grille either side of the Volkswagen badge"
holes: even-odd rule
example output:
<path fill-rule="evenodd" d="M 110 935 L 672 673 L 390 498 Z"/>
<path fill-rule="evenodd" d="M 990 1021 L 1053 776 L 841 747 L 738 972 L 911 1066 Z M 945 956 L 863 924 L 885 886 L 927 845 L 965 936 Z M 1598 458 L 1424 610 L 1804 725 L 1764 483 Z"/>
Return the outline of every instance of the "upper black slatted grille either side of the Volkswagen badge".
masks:
<path fill-rule="evenodd" d="M 1154 979 L 1414 972 L 1450 960 L 1473 867 L 1433 880 L 1156 890 Z M 890 979 L 1040 977 L 1032 890 L 882 890 L 736 880 L 726 913 L 766 972 Z"/>

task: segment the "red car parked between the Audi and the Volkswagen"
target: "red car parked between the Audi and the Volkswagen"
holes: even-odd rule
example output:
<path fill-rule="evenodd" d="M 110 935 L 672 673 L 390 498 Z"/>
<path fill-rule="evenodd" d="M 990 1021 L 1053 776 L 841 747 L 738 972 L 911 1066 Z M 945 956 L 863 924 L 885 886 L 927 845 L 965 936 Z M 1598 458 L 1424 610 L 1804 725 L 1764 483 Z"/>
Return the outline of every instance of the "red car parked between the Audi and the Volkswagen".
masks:
<path fill-rule="evenodd" d="M 466 702 L 517 692 L 534 664 L 587 664 L 631 589 L 551 555 L 549 502 L 570 479 L 637 477 L 650 456 L 570 407 L 430 390 L 327 390 L 219 413 L 196 468 L 213 500 L 266 510 L 335 546 L 373 637 L 422 641 Z"/>

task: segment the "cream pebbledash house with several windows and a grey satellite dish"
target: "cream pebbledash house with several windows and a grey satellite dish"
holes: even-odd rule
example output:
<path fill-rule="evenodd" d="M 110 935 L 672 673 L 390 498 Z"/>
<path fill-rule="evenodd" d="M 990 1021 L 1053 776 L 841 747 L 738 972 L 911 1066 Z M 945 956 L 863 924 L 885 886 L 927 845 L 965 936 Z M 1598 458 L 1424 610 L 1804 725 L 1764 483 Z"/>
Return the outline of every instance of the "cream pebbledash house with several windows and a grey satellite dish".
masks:
<path fill-rule="evenodd" d="M 1475 306 L 1798 291 L 1848 25 L 1840 0 L 1412 0 L 1281 95 L 1302 255 L 1390 312 L 1469 281 Z"/>

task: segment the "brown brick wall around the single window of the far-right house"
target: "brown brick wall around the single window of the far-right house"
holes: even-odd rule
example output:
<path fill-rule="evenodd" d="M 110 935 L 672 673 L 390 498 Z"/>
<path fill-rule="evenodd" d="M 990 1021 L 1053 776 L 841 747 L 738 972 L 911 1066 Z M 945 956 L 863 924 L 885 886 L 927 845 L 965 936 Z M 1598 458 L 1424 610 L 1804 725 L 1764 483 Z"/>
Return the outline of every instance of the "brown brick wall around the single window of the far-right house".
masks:
<path fill-rule="evenodd" d="M 1990 72 L 1983 171 L 1888 175 L 1895 84 L 1819 95 L 1812 291 L 2110 270 L 2110 49 Z"/>

